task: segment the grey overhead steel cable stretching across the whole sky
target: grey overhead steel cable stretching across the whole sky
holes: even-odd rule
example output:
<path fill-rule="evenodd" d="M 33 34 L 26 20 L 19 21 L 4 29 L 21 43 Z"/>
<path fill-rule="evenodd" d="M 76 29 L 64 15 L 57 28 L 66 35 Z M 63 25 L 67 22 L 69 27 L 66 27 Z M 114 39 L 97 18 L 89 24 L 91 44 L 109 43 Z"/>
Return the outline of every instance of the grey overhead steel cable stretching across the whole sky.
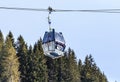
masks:
<path fill-rule="evenodd" d="M 43 12 L 93 12 L 93 13 L 120 13 L 120 9 L 93 9 L 93 10 L 62 10 L 62 9 L 40 9 L 40 8 L 20 8 L 20 7 L 0 7 L 6 10 L 43 11 Z"/>

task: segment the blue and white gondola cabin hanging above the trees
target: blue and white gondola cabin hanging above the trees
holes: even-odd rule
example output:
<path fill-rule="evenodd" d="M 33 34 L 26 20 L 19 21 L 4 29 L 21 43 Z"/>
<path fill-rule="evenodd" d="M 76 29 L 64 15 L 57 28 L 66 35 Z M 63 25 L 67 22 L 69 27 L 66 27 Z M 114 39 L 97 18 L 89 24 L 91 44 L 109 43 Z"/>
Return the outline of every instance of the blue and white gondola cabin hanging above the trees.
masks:
<path fill-rule="evenodd" d="M 63 56 L 66 45 L 62 33 L 57 33 L 54 29 L 45 32 L 42 47 L 44 54 L 52 59 Z"/>

